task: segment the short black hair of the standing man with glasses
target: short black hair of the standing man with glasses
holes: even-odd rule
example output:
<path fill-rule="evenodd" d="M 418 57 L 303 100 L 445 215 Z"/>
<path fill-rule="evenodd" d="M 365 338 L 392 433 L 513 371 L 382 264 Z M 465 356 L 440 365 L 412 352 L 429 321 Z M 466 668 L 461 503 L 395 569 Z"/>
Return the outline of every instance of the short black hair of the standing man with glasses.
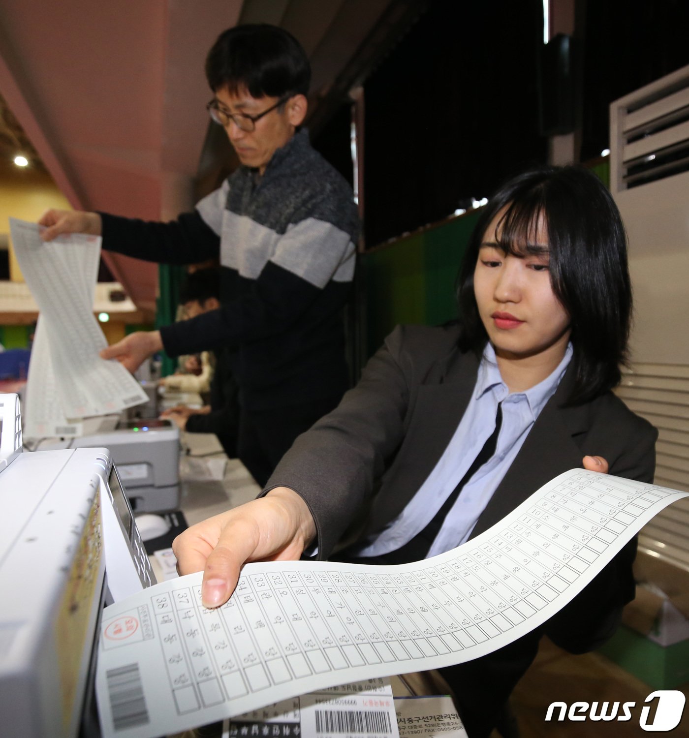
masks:
<path fill-rule="evenodd" d="M 311 65 L 296 38 L 268 24 L 222 32 L 208 52 L 206 78 L 213 92 L 246 88 L 252 97 L 308 94 Z"/>

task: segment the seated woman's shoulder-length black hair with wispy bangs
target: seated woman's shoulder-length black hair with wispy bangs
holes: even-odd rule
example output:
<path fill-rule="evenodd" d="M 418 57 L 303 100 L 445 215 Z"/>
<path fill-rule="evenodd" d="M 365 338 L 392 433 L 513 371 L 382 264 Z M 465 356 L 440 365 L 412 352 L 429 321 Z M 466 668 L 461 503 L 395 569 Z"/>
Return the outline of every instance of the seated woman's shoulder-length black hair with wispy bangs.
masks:
<path fill-rule="evenodd" d="M 485 231 L 503 209 L 498 240 Z M 460 348 L 483 351 L 487 341 L 473 290 L 484 235 L 521 256 L 525 244 L 534 243 L 539 216 L 546 220 L 552 290 L 571 320 L 575 383 L 569 403 L 580 404 L 619 384 L 631 323 L 622 218 L 609 190 L 583 168 L 537 168 L 510 179 L 490 199 L 459 272 Z"/>

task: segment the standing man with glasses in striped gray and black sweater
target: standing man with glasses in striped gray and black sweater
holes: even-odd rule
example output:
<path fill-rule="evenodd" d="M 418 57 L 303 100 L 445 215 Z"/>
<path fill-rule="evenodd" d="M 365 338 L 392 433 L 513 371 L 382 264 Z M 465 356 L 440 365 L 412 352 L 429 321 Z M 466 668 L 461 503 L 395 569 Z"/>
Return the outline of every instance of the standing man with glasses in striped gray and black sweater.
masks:
<path fill-rule="evenodd" d="M 193 213 L 148 223 L 49 210 L 46 241 L 103 235 L 103 248 L 162 263 L 220 258 L 218 310 L 130 334 L 103 351 L 135 370 L 171 356 L 227 348 L 239 384 L 239 458 L 263 485 L 294 438 L 332 410 L 348 382 L 342 308 L 354 275 L 352 190 L 301 124 L 311 76 L 304 49 L 276 27 L 222 33 L 206 60 L 213 100 L 241 167 Z"/>

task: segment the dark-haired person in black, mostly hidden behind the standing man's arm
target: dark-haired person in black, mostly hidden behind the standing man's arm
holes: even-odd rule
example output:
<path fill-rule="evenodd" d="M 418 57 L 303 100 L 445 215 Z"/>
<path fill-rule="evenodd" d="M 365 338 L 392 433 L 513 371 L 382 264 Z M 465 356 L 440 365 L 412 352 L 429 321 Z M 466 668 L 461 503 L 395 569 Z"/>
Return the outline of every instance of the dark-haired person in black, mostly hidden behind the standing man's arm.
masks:
<path fill-rule="evenodd" d="M 211 310 L 220 308 L 220 270 L 200 269 L 188 275 L 179 292 L 179 304 L 184 314 L 192 320 Z M 239 430 L 239 404 L 237 383 L 230 370 L 231 358 L 227 350 L 214 352 L 213 378 L 210 380 L 210 404 L 193 408 L 177 405 L 161 413 L 188 433 L 215 433 L 229 458 L 237 455 Z"/>

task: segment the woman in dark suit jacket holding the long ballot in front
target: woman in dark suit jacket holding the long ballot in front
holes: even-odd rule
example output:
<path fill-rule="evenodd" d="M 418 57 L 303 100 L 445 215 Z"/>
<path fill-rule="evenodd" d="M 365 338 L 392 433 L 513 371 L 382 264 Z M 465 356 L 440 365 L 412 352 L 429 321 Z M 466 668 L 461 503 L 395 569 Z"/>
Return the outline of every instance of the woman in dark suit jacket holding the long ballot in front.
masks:
<path fill-rule="evenodd" d="M 332 557 L 354 528 L 335 558 L 440 554 L 582 464 L 652 480 L 657 432 L 611 393 L 631 287 L 623 224 L 595 176 L 539 168 L 501 187 L 470 241 L 459 304 L 458 325 L 398 327 L 264 497 L 176 539 L 182 573 L 205 569 L 205 604 L 227 600 L 244 562 Z M 572 652 L 611 635 L 634 597 L 635 548 L 544 627 L 443 670 L 472 738 L 490 734 L 544 632 Z"/>

